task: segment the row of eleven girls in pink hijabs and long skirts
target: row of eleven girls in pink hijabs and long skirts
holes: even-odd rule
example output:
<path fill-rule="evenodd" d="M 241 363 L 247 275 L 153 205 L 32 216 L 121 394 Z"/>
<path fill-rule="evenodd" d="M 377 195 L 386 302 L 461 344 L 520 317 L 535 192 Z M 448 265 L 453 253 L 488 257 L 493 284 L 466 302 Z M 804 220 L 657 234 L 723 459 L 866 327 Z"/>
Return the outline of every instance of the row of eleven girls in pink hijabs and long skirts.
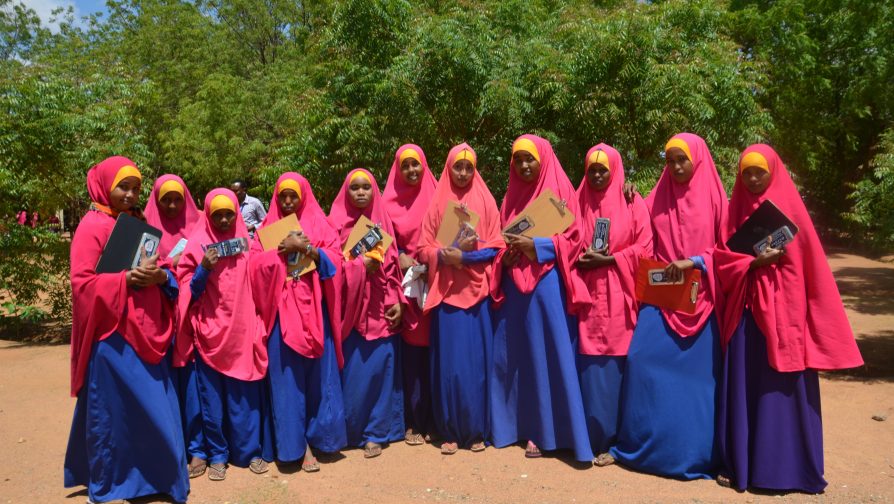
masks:
<path fill-rule="evenodd" d="M 618 151 L 596 145 L 575 191 L 550 143 L 522 135 L 498 208 L 472 147 L 453 147 L 436 180 L 407 144 L 383 192 L 352 170 L 328 216 L 304 177 L 282 174 L 261 227 L 295 215 L 301 231 L 226 257 L 208 245 L 249 240 L 236 196 L 215 189 L 199 211 L 165 175 L 145 210 L 163 231 L 159 254 L 98 274 L 142 181 L 132 161 L 103 161 L 71 248 L 65 485 L 94 502 L 179 502 L 188 478 L 222 480 L 228 465 L 313 472 L 315 451 L 369 458 L 404 440 L 445 455 L 526 443 L 531 458 L 567 449 L 597 466 L 822 491 L 817 370 L 862 359 L 797 189 L 766 145 L 742 153 L 731 200 L 700 137 L 674 136 L 665 159 L 643 199 Z M 565 231 L 501 231 L 546 190 L 575 216 Z M 728 250 L 767 199 L 797 225 L 794 241 L 757 257 Z M 479 220 L 441 243 L 451 202 Z M 343 253 L 361 216 L 394 243 Z M 590 245 L 597 218 L 610 219 L 607 250 Z M 295 254 L 313 269 L 290 272 Z M 671 279 L 701 270 L 694 313 L 638 303 L 642 257 Z M 409 297 L 401 279 L 421 266 L 427 295 Z"/>

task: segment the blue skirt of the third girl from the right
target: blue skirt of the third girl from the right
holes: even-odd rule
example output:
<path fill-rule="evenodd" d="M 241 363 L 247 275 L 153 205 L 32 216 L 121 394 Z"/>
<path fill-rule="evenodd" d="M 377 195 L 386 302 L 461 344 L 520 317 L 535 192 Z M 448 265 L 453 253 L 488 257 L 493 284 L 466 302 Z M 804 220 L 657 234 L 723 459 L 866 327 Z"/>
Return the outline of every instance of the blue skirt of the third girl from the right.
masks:
<path fill-rule="evenodd" d="M 604 453 L 618 436 L 618 403 L 624 378 L 623 356 L 577 355 L 580 391 L 593 453 Z"/>

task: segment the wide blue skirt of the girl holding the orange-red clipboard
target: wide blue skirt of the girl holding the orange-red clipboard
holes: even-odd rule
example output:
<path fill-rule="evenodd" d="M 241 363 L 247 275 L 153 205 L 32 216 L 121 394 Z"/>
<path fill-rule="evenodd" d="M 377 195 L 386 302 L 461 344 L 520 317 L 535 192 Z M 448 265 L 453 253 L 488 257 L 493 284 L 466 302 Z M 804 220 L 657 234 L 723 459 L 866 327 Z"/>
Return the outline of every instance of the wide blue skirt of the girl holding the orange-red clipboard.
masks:
<path fill-rule="evenodd" d="M 658 308 L 640 309 L 621 386 L 618 442 L 610 451 L 618 462 L 678 479 L 714 477 L 718 336 L 713 314 L 699 334 L 681 338 Z"/>

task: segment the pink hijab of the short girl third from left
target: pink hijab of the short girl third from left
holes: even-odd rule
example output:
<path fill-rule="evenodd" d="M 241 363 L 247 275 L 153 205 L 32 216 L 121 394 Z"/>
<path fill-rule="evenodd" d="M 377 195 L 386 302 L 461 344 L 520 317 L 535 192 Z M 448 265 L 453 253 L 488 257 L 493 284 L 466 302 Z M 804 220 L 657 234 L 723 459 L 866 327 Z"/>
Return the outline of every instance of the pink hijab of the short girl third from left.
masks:
<path fill-rule="evenodd" d="M 211 223 L 211 202 L 224 195 L 236 208 L 236 222 L 228 231 Z M 214 370 L 231 378 L 260 380 L 267 373 L 266 331 L 255 310 L 249 281 L 249 253 L 222 257 L 208 275 L 205 292 L 192 301 L 189 285 L 202 263 L 202 246 L 229 240 L 248 239 L 239 202 L 229 189 L 214 189 L 205 196 L 205 211 L 189 234 L 189 243 L 177 265 L 180 281 L 180 328 L 177 331 L 174 365 L 183 366 L 195 348 Z"/>

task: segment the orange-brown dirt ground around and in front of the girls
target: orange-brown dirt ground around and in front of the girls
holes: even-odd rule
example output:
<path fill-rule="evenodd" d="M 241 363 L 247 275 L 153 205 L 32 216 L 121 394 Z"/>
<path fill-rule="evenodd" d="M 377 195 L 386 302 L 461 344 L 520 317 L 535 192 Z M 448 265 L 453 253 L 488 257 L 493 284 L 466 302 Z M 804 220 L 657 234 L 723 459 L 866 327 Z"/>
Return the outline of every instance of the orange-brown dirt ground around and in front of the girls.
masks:
<path fill-rule="evenodd" d="M 190 502 L 894 502 L 894 265 L 844 253 L 829 260 L 866 366 L 821 380 L 822 495 L 737 493 L 713 481 L 593 468 L 562 453 L 527 460 L 521 447 L 444 457 L 431 445 L 397 443 L 372 460 L 346 450 L 315 474 L 231 468 L 224 482 L 192 480 Z M 67 345 L 0 341 L 0 504 L 86 500 L 83 488 L 62 487 L 75 404 L 68 380 Z"/>

